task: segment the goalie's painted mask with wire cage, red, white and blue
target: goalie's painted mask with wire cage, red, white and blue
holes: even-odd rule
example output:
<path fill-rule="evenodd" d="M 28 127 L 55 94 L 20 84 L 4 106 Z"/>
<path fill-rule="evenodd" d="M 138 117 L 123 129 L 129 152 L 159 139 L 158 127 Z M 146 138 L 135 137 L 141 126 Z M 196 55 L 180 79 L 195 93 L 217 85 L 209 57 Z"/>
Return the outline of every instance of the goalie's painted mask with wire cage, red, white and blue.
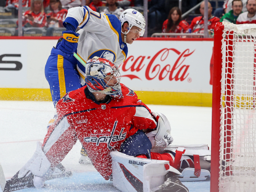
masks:
<path fill-rule="evenodd" d="M 122 98 L 118 66 L 105 58 L 92 58 L 86 63 L 86 85 L 90 92 L 101 92 Z"/>

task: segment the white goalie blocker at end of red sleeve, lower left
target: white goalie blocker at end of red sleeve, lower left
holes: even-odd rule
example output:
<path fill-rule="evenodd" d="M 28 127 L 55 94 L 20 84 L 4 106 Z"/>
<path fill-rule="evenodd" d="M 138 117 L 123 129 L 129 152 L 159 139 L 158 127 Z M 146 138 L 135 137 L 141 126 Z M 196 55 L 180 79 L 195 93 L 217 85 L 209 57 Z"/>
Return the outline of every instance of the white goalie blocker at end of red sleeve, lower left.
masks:
<path fill-rule="evenodd" d="M 43 177 L 47 170 L 50 168 L 50 161 L 47 159 L 46 154 L 42 151 L 42 144 L 38 142 L 36 152 L 32 158 L 25 164 L 25 166 L 18 172 L 18 178 L 25 177 L 28 172 L 38 177 Z"/>

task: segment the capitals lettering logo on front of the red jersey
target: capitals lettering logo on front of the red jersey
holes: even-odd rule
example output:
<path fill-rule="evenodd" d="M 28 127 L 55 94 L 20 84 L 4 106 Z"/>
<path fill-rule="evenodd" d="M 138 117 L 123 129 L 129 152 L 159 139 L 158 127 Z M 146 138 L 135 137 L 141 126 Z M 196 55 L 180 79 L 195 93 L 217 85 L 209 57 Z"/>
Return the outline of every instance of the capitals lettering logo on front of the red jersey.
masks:
<path fill-rule="evenodd" d="M 124 131 L 124 128 L 122 128 L 121 132 L 118 135 L 114 135 L 114 131 L 116 130 L 117 125 L 118 125 L 118 121 L 115 121 L 110 136 L 84 137 L 84 142 L 96 143 L 96 146 L 98 146 L 100 143 L 108 143 L 108 149 L 113 150 L 113 146 L 111 146 L 110 143 L 124 140 L 127 134 L 127 133 L 122 133 Z"/>

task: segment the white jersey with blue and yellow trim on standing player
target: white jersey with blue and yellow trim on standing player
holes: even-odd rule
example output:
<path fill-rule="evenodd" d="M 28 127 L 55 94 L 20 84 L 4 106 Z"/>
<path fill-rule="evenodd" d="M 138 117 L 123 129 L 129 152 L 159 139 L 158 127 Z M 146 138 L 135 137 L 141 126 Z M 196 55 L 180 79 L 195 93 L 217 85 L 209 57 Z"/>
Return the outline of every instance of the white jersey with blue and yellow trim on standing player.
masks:
<path fill-rule="evenodd" d="M 68 10 L 63 22 L 79 27 L 77 54 L 87 62 L 95 56 L 106 58 L 116 65 L 121 65 L 127 57 L 127 45 L 122 42 L 121 22 L 115 15 L 105 15 L 94 12 L 87 6 L 73 7 Z M 78 62 L 77 69 L 82 79 L 85 68 Z"/>

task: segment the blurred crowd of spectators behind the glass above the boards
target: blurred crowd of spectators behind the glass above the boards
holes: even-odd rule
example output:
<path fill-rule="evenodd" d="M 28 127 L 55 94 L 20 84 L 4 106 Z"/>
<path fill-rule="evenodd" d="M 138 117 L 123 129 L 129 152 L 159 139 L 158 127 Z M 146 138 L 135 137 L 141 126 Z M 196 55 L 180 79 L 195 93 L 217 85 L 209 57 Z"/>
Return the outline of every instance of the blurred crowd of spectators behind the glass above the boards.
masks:
<path fill-rule="evenodd" d="M 184 12 L 199 3 L 198 9 L 182 17 Z M 62 36 L 61 32 L 65 30 L 62 22 L 68 9 L 82 5 L 102 14 L 114 14 L 118 18 L 122 11 L 130 7 L 143 14 L 144 6 L 143 0 L 22 0 L 23 35 Z M 178 8 L 177 0 L 148 0 L 148 36 L 169 33 L 167 37 L 184 38 L 189 37 L 190 33 L 204 34 L 204 9 L 204 1 L 199 0 L 183 0 L 182 10 Z M 209 37 L 214 35 L 217 22 L 256 23 L 256 0 L 209 1 L 207 9 Z M 18 0 L 1 1 L 0 36 L 17 36 L 18 24 Z M 39 32 L 34 28 L 38 28 Z M 174 33 L 186 35 L 174 36 Z"/>

